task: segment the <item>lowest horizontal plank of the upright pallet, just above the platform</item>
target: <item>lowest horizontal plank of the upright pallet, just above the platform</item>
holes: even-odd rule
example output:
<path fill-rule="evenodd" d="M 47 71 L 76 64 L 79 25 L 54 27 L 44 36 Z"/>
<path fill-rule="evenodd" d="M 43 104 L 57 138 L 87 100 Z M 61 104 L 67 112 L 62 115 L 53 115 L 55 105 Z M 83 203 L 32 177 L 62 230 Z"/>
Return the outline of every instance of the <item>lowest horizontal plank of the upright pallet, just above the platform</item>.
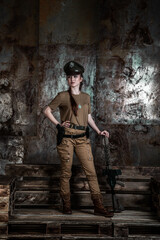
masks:
<path fill-rule="evenodd" d="M 112 205 L 111 194 L 103 194 L 104 205 Z M 151 208 L 150 194 L 116 194 L 120 203 L 127 209 Z M 61 199 L 59 193 L 49 191 L 17 191 L 16 205 L 33 205 L 33 204 L 60 204 Z M 72 207 L 90 207 L 93 206 L 90 191 L 74 191 L 71 195 Z"/>

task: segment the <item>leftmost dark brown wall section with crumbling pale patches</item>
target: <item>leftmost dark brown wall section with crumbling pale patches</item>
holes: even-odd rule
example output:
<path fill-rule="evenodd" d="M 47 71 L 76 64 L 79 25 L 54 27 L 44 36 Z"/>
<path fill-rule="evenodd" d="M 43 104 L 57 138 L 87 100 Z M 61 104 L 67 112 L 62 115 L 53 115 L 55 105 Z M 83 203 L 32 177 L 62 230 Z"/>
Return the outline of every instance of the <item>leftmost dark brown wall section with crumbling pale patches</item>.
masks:
<path fill-rule="evenodd" d="M 37 135 L 38 1 L 0 1 L 0 174 Z"/>

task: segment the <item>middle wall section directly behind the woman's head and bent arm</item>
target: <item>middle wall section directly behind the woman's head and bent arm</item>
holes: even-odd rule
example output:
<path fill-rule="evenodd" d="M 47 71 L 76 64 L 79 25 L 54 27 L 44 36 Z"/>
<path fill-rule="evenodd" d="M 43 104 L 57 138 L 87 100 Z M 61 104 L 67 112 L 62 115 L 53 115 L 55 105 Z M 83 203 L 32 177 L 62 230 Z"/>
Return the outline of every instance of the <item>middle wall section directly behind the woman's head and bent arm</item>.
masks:
<path fill-rule="evenodd" d="M 27 138 L 26 163 L 59 163 L 56 130 L 42 110 L 59 91 L 68 89 L 63 72 L 67 61 L 76 60 L 86 66 L 83 90 L 91 95 L 93 106 L 98 38 L 98 27 L 94 27 L 99 18 L 96 9 L 97 0 L 86 4 L 84 0 L 40 1 L 38 138 Z M 59 118 L 58 111 L 55 116 Z"/>

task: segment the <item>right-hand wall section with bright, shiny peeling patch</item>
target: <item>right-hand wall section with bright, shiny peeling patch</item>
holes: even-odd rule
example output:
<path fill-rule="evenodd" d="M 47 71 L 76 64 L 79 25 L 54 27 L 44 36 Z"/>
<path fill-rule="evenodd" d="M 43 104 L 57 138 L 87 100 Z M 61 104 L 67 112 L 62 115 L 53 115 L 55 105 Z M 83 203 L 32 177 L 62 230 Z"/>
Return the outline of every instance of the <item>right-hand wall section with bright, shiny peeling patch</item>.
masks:
<path fill-rule="evenodd" d="M 97 123 L 110 131 L 113 164 L 158 166 L 160 3 L 103 1 L 101 9 Z M 101 150 L 99 146 L 96 156 Z M 103 162 L 102 156 L 100 163 Z"/>

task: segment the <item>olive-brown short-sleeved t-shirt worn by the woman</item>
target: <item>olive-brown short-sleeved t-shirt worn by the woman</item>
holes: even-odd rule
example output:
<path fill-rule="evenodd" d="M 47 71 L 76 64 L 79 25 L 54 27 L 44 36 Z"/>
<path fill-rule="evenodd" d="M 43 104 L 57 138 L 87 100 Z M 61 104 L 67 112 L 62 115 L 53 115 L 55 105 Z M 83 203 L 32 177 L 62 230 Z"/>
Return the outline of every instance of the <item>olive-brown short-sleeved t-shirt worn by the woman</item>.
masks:
<path fill-rule="evenodd" d="M 78 105 L 77 116 L 72 111 L 68 91 L 59 92 L 48 106 L 52 111 L 55 111 L 59 107 L 61 122 L 68 120 L 79 126 L 87 126 L 88 114 L 91 113 L 90 96 L 84 92 L 80 92 L 79 95 L 72 94 L 72 96 Z"/>

